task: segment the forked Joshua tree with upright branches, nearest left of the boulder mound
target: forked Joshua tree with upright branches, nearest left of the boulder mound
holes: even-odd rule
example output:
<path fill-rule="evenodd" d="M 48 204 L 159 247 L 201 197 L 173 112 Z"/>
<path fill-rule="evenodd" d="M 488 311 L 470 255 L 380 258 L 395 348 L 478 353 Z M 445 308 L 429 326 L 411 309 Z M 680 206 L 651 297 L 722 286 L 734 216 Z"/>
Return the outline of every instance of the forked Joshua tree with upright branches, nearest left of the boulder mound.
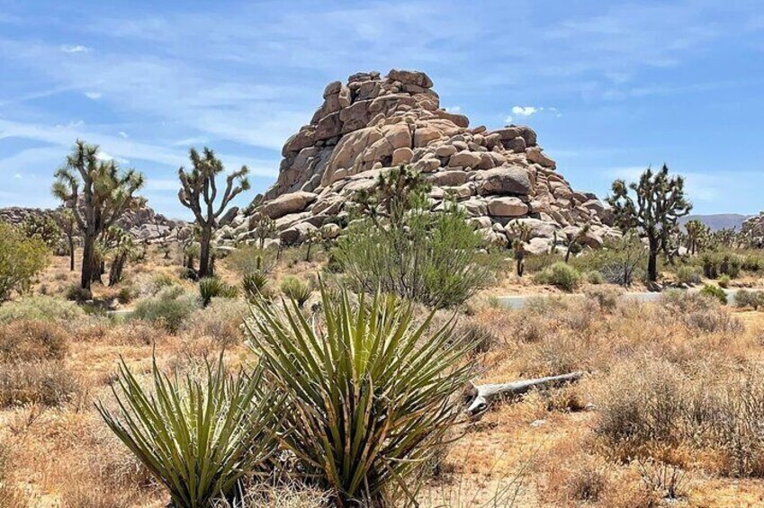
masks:
<path fill-rule="evenodd" d="M 215 200 L 218 198 L 218 187 L 215 183 L 215 178 L 218 174 L 225 171 L 223 163 L 207 147 L 204 148 L 202 155 L 195 148 L 191 148 L 189 157 L 193 167 L 188 171 L 184 167 L 178 169 L 181 183 L 178 199 L 184 207 L 193 211 L 196 224 L 202 232 L 199 253 L 199 278 L 203 278 L 212 274 L 210 263 L 212 232 L 217 227 L 218 218 L 225 213 L 230 202 L 240 192 L 249 189 L 249 181 L 247 180 L 249 170 L 246 165 L 243 165 L 241 169 L 228 175 L 226 189 L 222 194 L 220 206 L 215 209 Z M 237 184 L 234 185 L 235 183 Z"/>

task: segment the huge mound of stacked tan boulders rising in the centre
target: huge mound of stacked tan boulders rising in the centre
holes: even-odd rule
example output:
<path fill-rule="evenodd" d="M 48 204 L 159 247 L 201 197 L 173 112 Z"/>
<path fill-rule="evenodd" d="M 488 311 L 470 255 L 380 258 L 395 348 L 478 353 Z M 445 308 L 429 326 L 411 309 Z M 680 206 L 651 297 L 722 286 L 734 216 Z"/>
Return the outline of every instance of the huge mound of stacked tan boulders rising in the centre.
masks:
<path fill-rule="evenodd" d="M 323 98 L 310 123 L 284 144 L 276 183 L 246 212 L 273 218 L 283 242 L 300 242 L 347 214 L 357 192 L 373 190 L 379 174 L 397 165 L 427 174 L 431 209 L 454 197 L 492 241 L 506 242 L 513 222 L 531 228 L 528 247 L 537 252 L 583 224 L 591 225 L 589 245 L 613 234 L 607 206 L 571 188 L 533 129 L 470 128 L 466 116 L 441 109 L 425 73 L 358 73 L 327 85 Z M 222 228 L 223 242 L 253 239 L 246 213 Z"/>

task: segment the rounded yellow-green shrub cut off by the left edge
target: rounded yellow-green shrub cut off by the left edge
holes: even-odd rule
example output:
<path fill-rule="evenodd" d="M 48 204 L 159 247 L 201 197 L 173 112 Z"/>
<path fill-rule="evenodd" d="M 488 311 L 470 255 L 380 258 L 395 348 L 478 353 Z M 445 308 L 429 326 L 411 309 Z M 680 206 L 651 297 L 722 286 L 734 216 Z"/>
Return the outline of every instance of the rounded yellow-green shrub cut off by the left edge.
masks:
<path fill-rule="evenodd" d="M 30 289 L 31 282 L 48 265 L 48 247 L 39 238 L 0 222 L 0 303 L 13 292 Z"/>

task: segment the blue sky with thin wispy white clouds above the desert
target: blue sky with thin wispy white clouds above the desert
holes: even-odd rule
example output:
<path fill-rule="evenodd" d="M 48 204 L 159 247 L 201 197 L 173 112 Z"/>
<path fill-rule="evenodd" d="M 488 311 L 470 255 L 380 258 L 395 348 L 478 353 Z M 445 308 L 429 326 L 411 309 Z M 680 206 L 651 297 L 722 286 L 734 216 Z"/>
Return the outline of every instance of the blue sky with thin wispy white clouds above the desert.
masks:
<path fill-rule="evenodd" d="M 531 125 L 577 189 L 666 162 L 698 213 L 764 209 L 764 10 L 756 1 L 0 0 L 0 206 L 52 206 L 76 138 L 176 200 L 189 146 L 275 179 L 329 81 L 424 70 L 441 104 Z"/>

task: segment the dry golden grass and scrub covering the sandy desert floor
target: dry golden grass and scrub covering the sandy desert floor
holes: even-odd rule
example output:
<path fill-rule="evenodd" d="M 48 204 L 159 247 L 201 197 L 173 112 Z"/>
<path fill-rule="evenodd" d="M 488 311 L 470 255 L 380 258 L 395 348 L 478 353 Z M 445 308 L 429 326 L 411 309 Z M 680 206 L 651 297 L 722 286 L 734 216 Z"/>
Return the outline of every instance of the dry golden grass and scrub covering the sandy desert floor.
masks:
<path fill-rule="evenodd" d="M 302 254 L 284 253 L 270 285 L 318 272 L 320 249 L 311 263 Z M 65 258 L 54 263 L 40 287 L 57 295 L 76 274 Z M 151 253 L 128 267 L 121 287 L 96 286 L 94 295 L 112 305 L 130 287 L 139 296 L 127 305 L 135 306 L 168 284 L 195 291 L 177 279 L 173 263 Z M 218 267 L 223 280 L 238 284 L 226 260 Z M 511 276 L 501 284 L 484 294 L 555 292 Z M 677 495 L 688 506 L 764 505 L 764 486 L 752 479 L 764 476 L 764 313 L 677 297 L 638 303 L 617 299 L 611 286 L 584 292 L 588 298 L 538 299 L 519 311 L 475 299 L 460 314 L 460 331 L 481 344 L 472 359 L 479 382 L 589 374 L 463 423 L 463 438 L 422 487 L 421 505 L 657 506 L 678 472 Z M 241 299 L 213 302 L 182 319 L 176 334 L 78 309 L 72 318 L 58 299 L 0 312 L 13 315 L 0 325 L 0 396 L 10 401 L 0 410 L 0 506 L 165 506 L 161 489 L 106 431 L 92 403 L 109 399 L 120 355 L 143 379 L 152 352 L 178 372 L 199 369 L 223 347 L 232 366 L 252 361 L 235 322 L 246 310 Z M 37 323 L 40 313 L 53 315 L 47 325 Z M 244 506 L 318 508 L 324 497 L 304 486 L 261 484 Z"/>

